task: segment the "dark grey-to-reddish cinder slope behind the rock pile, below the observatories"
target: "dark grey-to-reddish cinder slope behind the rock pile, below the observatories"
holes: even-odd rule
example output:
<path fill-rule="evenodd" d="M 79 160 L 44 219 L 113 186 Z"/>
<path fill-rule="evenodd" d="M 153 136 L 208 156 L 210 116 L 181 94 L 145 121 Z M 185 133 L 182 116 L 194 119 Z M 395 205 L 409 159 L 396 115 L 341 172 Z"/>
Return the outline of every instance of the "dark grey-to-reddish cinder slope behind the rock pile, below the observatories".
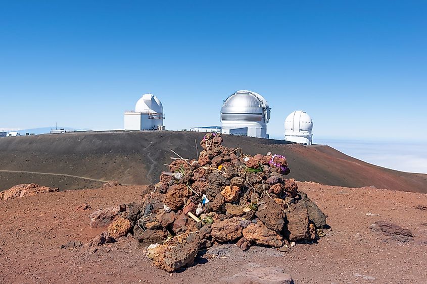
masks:
<path fill-rule="evenodd" d="M 174 150 L 196 158 L 204 133 L 76 132 L 0 139 L 0 191 L 20 183 L 66 189 L 99 187 L 117 180 L 147 185 L 170 163 Z M 375 186 L 427 193 L 427 175 L 375 166 L 323 145 L 303 146 L 281 140 L 224 136 L 224 146 L 245 153 L 286 156 L 289 178 L 344 187 Z"/>

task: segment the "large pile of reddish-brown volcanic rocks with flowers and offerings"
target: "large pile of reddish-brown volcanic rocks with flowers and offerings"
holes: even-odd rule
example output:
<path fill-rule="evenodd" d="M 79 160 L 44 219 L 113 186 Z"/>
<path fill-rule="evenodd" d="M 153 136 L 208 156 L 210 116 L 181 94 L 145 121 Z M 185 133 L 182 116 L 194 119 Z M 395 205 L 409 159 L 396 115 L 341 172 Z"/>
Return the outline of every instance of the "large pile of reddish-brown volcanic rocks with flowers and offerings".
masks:
<path fill-rule="evenodd" d="M 294 179 L 285 178 L 290 169 L 283 156 L 245 155 L 224 147 L 216 133 L 206 134 L 200 144 L 198 160 L 175 159 L 141 202 L 109 211 L 129 220 L 127 227 L 139 247 L 148 247 L 156 267 L 176 271 L 217 243 L 288 251 L 292 242 L 322 236 L 326 216 L 298 191 Z M 91 217 L 92 226 L 114 219 Z"/>

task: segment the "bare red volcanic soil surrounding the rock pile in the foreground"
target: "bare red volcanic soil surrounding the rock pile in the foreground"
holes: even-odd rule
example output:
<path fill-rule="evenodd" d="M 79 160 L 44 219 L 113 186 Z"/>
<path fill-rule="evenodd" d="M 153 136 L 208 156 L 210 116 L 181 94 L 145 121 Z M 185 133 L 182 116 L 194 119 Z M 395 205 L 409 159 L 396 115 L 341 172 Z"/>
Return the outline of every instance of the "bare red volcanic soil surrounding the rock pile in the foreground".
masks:
<path fill-rule="evenodd" d="M 297 244 L 289 253 L 220 245 L 218 257 L 199 258 L 170 274 L 153 267 L 131 238 L 103 245 L 94 254 L 60 248 L 69 241 L 86 243 L 101 232 L 90 228 L 91 212 L 140 199 L 145 189 L 116 186 L 0 201 L 0 283 L 224 282 L 247 263 L 283 268 L 296 283 L 427 282 L 427 195 L 369 187 L 299 183 L 299 190 L 328 215 L 331 229 L 317 244 Z M 83 203 L 92 209 L 76 211 Z M 369 225 L 378 220 L 409 229 L 414 238 L 402 243 L 373 232 Z"/>

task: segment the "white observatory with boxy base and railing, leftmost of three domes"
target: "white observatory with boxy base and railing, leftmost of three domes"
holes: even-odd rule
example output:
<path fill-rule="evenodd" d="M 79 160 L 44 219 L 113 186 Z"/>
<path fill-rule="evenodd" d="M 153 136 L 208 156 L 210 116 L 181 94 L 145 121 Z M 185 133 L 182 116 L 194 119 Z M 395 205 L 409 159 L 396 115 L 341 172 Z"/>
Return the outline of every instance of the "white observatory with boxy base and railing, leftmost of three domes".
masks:
<path fill-rule="evenodd" d="M 125 130 L 164 130 L 163 105 L 152 95 L 143 95 L 135 105 L 134 111 L 125 111 Z"/>

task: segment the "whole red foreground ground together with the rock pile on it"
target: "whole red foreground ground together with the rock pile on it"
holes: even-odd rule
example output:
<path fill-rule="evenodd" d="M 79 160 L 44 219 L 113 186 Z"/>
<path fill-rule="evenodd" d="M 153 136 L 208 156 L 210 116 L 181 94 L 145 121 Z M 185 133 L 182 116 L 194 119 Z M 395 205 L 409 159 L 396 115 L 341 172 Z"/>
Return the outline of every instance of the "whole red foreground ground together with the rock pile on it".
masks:
<path fill-rule="evenodd" d="M 0 283 L 427 281 L 427 195 L 297 182 L 219 138 L 152 186 L 0 200 Z"/>

